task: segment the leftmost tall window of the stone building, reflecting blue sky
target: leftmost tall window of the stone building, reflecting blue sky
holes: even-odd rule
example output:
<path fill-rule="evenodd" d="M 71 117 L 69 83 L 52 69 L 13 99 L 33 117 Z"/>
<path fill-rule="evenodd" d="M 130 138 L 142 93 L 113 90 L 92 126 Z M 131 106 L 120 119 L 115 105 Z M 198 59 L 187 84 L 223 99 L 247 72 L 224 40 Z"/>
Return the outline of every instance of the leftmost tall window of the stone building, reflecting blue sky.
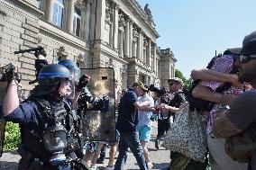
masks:
<path fill-rule="evenodd" d="M 63 27 L 64 0 L 55 0 L 53 4 L 52 23 L 59 28 Z"/>

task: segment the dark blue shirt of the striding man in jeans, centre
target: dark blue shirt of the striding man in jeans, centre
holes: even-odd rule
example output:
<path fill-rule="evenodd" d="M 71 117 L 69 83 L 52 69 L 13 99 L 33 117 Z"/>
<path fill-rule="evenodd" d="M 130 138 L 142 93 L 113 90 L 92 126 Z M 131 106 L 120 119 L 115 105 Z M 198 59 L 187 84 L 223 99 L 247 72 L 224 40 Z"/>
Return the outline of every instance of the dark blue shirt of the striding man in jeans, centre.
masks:
<path fill-rule="evenodd" d="M 121 97 L 116 122 L 116 129 L 119 132 L 133 132 L 137 130 L 138 113 L 133 105 L 137 101 L 138 97 L 133 90 L 125 92 L 123 97 Z"/>

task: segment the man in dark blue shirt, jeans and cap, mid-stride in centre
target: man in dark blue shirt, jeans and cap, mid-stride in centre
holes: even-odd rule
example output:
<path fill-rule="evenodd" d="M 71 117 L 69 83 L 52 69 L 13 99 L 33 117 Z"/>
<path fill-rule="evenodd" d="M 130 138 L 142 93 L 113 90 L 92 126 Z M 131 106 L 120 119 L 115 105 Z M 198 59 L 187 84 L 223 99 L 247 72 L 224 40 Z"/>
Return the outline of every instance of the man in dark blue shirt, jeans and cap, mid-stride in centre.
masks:
<path fill-rule="evenodd" d="M 138 96 L 142 94 L 142 90 L 145 89 L 141 82 L 133 83 L 133 88 L 130 88 L 119 103 L 118 117 L 116 122 L 116 128 L 120 132 L 119 142 L 119 155 L 115 162 L 114 169 L 123 169 L 126 162 L 128 148 L 131 148 L 133 156 L 136 158 L 138 165 L 141 169 L 149 169 L 145 157 L 143 156 L 142 145 L 139 140 L 138 127 L 138 112 L 136 110 L 142 110 L 145 112 L 155 111 L 148 106 L 148 103 L 139 103 Z"/>

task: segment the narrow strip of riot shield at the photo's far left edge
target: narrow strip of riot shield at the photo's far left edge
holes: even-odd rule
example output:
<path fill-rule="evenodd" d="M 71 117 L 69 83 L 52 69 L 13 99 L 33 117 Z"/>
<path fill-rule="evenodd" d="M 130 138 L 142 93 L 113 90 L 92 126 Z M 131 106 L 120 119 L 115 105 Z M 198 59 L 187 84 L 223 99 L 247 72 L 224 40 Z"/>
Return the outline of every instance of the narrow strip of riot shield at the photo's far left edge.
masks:
<path fill-rule="evenodd" d="M 5 67 L 0 67 L 0 81 L 4 81 Z M 7 87 L 7 82 L 0 82 L 0 157 L 2 157 L 5 139 L 5 120 L 4 113 L 2 112 L 2 103 L 5 96 L 5 89 Z"/>

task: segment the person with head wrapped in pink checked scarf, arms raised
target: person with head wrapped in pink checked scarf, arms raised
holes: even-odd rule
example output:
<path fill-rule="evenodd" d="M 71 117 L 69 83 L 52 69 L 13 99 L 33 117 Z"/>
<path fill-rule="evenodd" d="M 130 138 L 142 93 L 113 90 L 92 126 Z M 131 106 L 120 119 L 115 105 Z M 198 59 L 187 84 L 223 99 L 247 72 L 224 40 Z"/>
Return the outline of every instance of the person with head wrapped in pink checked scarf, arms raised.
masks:
<path fill-rule="evenodd" d="M 232 70 L 235 73 L 237 68 L 234 66 L 235 56 L 230 53 L 230 51 L 225 51 L 224 56 L 215 59 L 213 67 L 211 70 L 229 74 Z M 192 77 L 197 77 L 199 79 L 204 79 L 203 76 L 206 74 L 206 71 L 192 71 Z M 234 76 L 230 76 L 234 77 Z M 205 78 L 205 79 L 210 79 Z M 219 86 L 224 86 L 224 83 L 221 82 L 224 80 L 221 77 L 216 76 L 213 80 L 215 81 L 201 81 L 193 90 L 192 94 L 196 98 L 204 99 L 206 101 L 214 102 L 215 105 L 208 114 L 207 121 L 207 147 L 210 153 L 210 164 L 213 170 L 242 170 L 246 169 L 246 164 L 241 164 L 233 161 L 227 154 L 224 152 L 224 139 L 215 139 L 212 135 L 213 122 L 215 120 L 216 112 L 218 112 L 224 105 L 228 105 L 233 102 L 233 99 L 237 94 L 242 94 L 243 89 L 242 85 L 240 87 L 229 86 L 221 93 L 215 92 Z M 231 80 L 233 81 L 233 80 Z M 224 81 L 226 82 L 226 81 Z M 238 84 L 238 83 L 237 83 Z M 205 113 L 206 115 L 206 113 Z"/>

